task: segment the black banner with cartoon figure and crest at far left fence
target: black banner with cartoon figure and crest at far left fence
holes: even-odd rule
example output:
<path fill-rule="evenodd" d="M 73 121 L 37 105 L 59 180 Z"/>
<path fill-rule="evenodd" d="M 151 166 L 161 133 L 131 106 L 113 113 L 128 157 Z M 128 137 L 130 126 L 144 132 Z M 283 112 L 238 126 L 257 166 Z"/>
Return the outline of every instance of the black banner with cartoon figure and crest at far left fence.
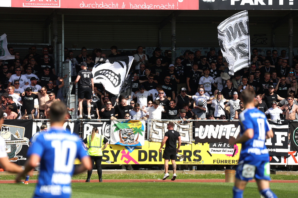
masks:
<path fill-rule="evenodd" d="M 5 140 L 9 161 L 24 165 L 32 137 L 32 123 L 33 120 L 4 120 L 0 133 Z"/>

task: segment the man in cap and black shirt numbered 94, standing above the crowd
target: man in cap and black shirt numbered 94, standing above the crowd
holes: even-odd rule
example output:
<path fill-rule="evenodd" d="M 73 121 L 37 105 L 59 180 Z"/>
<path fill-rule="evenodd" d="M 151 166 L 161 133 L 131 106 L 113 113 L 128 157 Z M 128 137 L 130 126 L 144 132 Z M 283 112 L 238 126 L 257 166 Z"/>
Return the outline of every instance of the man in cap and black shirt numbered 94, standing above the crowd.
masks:
<path fill-rule="evenodd" d="M 87 118 L 91 119 L 90 110 L 91 110 L 91 98 L 93 91 L 93 74 L 87 69 L 87 63 L 82 62 L 81 66 L 83 69 L 78 72 L 77 79 L 74 81 L 74 84 L 79 82 L 78 84 L 78 109 L 80 112 L 80 115 L 78 116 L 78 119 L 82 119 L 82 108 L 83 108 L 83 99 L 86 98 L 87 101 L 87 111 L 88 115 Z"/>

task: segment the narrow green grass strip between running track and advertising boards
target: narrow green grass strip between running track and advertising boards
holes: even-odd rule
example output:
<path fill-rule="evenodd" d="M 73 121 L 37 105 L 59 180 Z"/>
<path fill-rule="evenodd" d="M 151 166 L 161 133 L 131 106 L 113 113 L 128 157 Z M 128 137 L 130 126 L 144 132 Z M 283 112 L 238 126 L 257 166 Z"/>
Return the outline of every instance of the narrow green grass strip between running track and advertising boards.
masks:
<path fill-rule="evenodd" d="M 161 179 L 163 175 L 164 174 L 103 174 L 102 179 Z M 297 180 L 297 175 L 271 175 L 271 179 Z M 15 177 L 15 175 L 0 175 L 0 180 L 15 179 Z M 224 179 L 224 177 L 224 174 L 177 174 L 177 179 Z M 38 175 L 30 177 L 30 179 L 37 178 Z M 86 174 L 74 175 L 72 177 L 72 179 L 86 178 Z M 98 175 L 93 173 L 91 179 L 98 179 Z"/>

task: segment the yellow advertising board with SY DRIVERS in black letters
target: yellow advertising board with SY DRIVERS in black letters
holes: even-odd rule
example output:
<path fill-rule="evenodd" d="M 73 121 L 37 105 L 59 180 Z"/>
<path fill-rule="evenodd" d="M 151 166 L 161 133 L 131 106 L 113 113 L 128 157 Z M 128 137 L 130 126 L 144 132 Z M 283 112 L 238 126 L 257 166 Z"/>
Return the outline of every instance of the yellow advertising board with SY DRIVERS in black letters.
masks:
<path fill-rule="evenodd" d="M 141 147 L 108 145 L 103 150 L 102 164 L 164 164 L 159 147 L 160 143 L 148 141 Z M 181 145 L 179 154 L 185 157 L 181 162 L 177 158 L 176 164 L 238 164 L 240 149 L 241 144 L 232 147 L 227 143 Z"/>

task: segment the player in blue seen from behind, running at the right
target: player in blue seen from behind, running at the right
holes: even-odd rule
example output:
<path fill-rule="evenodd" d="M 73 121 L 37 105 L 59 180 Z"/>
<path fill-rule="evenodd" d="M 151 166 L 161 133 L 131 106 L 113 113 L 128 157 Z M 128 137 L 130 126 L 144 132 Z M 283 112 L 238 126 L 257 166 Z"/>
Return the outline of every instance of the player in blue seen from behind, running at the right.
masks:
<path fill-rule="evenodd" d="M 265 114 L 255 107 L 253 91 L 243 90 L 241 101 L 245 106 L 239 116 L 241 130 L 236 139 L 229 140 L 230 144 L 242 143 L 233 198 L 242 198 L 246 183 L 253 178 L 256 179 L 260 195 L 276 198 L 269 188 L 269 153 L 265 146 L 265 140 L 272 138 L 273 132 Z"/>

